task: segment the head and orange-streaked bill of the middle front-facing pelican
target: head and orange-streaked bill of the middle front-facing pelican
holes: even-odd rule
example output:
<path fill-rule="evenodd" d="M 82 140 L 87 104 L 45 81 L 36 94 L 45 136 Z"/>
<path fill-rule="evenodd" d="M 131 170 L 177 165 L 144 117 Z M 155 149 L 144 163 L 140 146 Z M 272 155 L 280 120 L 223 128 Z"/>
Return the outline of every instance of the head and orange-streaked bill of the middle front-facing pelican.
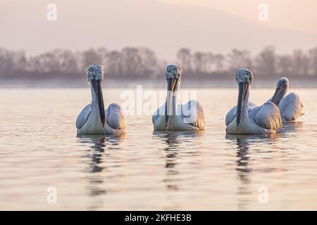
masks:
<path fill-rule="evenodd" d="M 165 108 L 165 123 L 168 126 L 169 116 L 173 115 L 173 98 L 178 91 L 180 86 L 180 77 L 182 76 L 182 68 L 178 65 L 168 65 L 166 68 L 166 81 L 168 83 L 168 93 L 166 98 L 166 108 Z"/>

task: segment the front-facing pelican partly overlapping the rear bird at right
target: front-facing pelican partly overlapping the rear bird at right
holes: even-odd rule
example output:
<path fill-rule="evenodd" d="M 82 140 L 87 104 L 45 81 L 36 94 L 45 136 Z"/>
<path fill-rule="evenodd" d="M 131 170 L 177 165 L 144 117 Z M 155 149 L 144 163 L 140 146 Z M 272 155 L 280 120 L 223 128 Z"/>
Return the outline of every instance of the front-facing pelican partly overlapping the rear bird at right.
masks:
<path fill-rule="evenodd" d="M 235 76 L 239 84 L 237 106 L 225 117 L 227 134 L 274 134 L 282 127 L 282 118 L 278 106 L 266 102 L 255 107 L 249 103 L 249 90 L 253 82 L 250 70 L 240 69 Z"/>

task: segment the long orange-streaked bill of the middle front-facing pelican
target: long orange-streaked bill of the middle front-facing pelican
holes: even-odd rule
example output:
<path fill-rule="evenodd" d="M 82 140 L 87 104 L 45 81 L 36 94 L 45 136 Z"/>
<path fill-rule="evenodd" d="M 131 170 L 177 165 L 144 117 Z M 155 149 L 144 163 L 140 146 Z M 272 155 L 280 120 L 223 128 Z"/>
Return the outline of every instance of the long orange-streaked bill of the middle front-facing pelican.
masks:
<path fill-rule="evenodd" d="M 170 120 L 170 115 L 173 115 L 173 101 L 174 101 L 174 92 L 176 86 L 178 84 L 178 78 L 168 78 L 168 93 L 166 97 L 166 104 L 165 104 L 165 127 L 168 127 L 168 122 Z"/>

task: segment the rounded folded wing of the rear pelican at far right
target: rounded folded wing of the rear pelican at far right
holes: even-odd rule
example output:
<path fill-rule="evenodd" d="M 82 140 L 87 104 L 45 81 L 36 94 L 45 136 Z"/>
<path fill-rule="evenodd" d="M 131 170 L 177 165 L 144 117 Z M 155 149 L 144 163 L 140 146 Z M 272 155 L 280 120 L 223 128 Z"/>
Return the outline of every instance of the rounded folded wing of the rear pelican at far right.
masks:
<path fill-rule="evenodd" d="M 290 93 L 285 98 L 282 98 L 279 108 L 283 120 L 294 121 L 301 115 L 304 115 L 302 113 L 303 104 L 299 100 L 299 96 L 294 93 Z"/>

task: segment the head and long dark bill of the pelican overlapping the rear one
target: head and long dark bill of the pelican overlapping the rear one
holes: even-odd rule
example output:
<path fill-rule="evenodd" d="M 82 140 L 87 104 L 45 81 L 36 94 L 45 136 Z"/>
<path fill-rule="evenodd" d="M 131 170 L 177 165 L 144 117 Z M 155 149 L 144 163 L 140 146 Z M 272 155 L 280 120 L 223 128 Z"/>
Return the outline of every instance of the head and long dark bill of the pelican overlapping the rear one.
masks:
<path fill-rule="evenodd" d="M 239 96 L 237 101 L 237 130 L 240 127 L 240 122 L 243 114 L 243 108 L 244 108 L 244 101 L 247 97 L 247 93 L 249 91 L 249 88 L 252 85 L 253 82 L 253 74 L 248 69 L 240 69 L 237 71 L 235 75 L 235 80 L 237 84 L 239 84 Z"/>

